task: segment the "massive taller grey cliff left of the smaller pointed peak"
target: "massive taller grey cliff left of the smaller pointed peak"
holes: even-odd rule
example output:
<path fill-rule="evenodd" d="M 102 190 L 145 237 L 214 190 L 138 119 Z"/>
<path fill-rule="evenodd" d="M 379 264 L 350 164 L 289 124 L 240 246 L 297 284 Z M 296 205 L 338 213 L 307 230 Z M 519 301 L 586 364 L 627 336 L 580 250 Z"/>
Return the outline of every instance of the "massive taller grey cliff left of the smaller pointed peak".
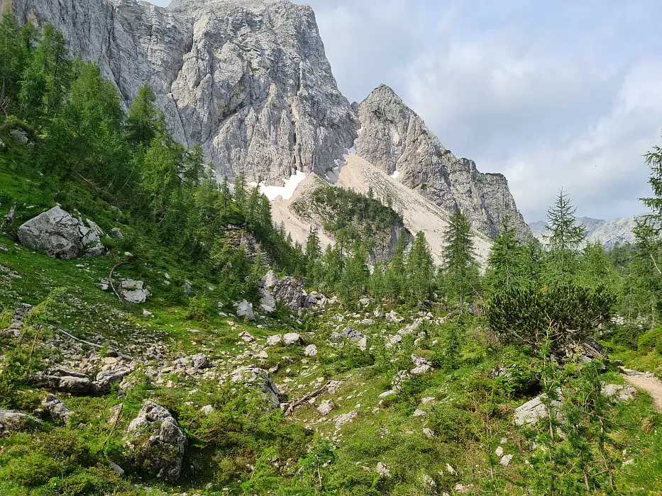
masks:
<path fill-rule="evenodd" d="M 13 1 L 21 21 L 62 30 L 130 103 L 158 95 L 177 140 L 200 143 L 219 176 L 324 175 L 351 147 L 357 119 L 338 91 L 310 6 L 287 0 Z"/>

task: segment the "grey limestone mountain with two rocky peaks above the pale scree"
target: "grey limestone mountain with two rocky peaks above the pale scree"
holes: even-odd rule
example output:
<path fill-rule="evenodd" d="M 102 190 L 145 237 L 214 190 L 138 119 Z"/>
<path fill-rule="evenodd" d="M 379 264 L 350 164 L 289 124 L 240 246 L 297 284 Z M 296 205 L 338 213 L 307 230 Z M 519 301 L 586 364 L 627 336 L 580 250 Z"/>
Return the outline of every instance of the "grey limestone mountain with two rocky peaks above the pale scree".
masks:
<path fill-rule="evenodd" d="M 484 235 L 496 235 L 502 220 L 529 235 L 505 177 L 455 157 L 388 86 L 350 105 L 308 5 L 0 0 L 0 8 L 10 2 L 19 21 L 62 30 L 73 55 L 115 82 L 125 106 L 149 84 L 172 135 L 202 145 L 219 179 L 240 170 L 263 188 L 297 173 L 326 179 L 355 152 L 446 213 L 461 208 Z"/>

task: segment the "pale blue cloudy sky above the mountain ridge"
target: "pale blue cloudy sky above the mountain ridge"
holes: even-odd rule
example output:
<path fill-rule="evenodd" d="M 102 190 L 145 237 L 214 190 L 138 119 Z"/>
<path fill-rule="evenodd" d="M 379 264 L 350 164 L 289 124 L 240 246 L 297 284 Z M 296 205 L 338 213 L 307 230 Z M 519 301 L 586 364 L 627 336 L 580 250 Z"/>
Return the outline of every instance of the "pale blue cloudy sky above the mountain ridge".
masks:
<path fill-rule="evenodd" d="M 645 210 L 642 155 L 662 146 L 661 1 L 306 3 L 349 101 L 391 86 L 456 156 L 504 174 L 528 222 L 559 188 L 579 216 Z"/>

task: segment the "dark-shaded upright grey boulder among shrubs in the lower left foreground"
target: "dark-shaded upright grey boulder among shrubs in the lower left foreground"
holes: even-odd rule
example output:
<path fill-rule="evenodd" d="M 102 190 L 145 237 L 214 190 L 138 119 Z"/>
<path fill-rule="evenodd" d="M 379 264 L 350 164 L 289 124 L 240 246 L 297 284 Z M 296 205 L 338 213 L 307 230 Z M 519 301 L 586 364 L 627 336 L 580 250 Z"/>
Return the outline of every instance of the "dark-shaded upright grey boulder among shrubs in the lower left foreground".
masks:
<path fill-rule="evenodd" d="M 128 425 L 126 446 L 140 469 L 170 483 L 180 478 L 187 439 L 177 420 L 161 405 L 143 402 L 138 416 Z"/>

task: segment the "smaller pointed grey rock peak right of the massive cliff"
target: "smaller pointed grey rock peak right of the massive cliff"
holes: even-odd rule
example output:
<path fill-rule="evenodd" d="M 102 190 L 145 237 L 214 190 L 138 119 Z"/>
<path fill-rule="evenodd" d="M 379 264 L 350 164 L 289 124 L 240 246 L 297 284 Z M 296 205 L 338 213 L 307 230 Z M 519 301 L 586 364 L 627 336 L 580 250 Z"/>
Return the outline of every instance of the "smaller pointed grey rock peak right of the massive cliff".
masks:
<path fill-rule="evenodd" d="M 358 106 L 356 153 L 448 212 L 460 208 L 471 225 L 494 236 L 501 220 L 530 233 L 502 174 L 481 174 L 473 160 L 458 159 L 388 86 Z"/>

